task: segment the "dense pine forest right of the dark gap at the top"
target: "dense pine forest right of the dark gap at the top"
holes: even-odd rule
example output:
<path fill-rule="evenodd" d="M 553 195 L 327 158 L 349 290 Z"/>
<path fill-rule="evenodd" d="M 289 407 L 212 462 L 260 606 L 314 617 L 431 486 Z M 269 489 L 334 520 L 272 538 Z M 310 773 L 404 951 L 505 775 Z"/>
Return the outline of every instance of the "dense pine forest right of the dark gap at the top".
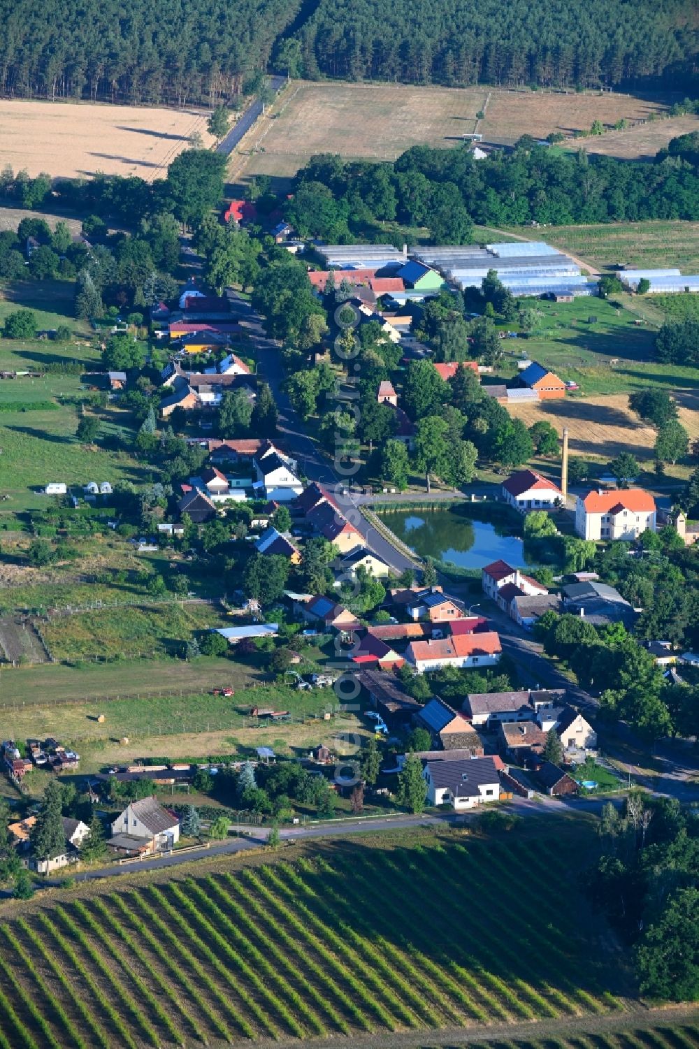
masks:
<path fill-rule="evenodd" d="M 692 0 L 320 0 L 300 34 L 306 76 L 411 84 L 680 86 Z"/>

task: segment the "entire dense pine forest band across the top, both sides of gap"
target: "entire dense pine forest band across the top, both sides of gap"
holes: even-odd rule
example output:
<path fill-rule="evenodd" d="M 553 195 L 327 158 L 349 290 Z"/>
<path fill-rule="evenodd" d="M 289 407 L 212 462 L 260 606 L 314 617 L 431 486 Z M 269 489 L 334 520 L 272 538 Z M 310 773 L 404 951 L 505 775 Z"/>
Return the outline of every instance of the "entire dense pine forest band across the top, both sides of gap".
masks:
<path fill-rule="evenodd" d="M 4 0 L 0 93 L 230 102 L 264 69 L 311 79 L 641 86 L 696 80 L 692 0 Z"/>

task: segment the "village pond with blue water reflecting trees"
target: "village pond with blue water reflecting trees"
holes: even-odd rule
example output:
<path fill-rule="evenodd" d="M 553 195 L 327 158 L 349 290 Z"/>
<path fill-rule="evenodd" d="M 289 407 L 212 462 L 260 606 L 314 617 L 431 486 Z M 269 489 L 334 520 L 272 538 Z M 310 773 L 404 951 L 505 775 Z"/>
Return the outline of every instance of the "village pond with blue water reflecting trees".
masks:
<path fill-rule="evenodd" d="M 379 516 L 399 539 L 420 557 L 482 569 L 502 558 L 512 568 L 525 568 L 524 542 L 507 515 L 493 513 L 504 507 L 459 504 L 453 507 L 412 507 L 382 510 Z M 521 524 L 520 524 L 521 529 Z"/>

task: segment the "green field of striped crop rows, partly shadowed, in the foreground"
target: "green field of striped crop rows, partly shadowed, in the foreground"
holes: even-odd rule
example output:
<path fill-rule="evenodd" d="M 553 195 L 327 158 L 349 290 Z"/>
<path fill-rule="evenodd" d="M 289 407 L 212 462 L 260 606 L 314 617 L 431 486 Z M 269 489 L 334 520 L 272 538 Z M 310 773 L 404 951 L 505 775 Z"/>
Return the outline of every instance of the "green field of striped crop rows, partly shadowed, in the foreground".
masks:
<path fill-rule="evenodd" d="M 385 835 L 24 904 L 2 923 L 0 1047 L 623 1022 L 623 957 L 560 835 Z"/>

